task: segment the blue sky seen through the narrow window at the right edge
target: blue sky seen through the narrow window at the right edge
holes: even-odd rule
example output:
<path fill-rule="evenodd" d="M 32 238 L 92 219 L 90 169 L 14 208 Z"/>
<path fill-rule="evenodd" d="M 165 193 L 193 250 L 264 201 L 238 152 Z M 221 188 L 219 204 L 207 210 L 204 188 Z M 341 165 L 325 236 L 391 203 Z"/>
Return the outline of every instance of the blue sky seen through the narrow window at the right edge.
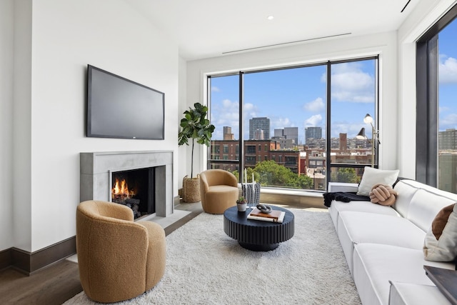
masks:
<path fill-rule="evenodd" d="M 457 20 L 438 34 L 440 131 L 457 129 Z"/>

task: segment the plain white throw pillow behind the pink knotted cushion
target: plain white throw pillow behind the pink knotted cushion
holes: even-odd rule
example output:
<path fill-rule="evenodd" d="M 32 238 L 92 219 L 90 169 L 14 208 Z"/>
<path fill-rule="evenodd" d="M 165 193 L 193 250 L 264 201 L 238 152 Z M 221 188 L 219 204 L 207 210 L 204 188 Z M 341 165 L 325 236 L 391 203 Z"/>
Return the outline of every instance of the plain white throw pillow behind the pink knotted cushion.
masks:
<path fill-rule="evenodd" d="M 365 166 L 363 171 L 362 181 L 358 185 L 357 195 L 361 196 L 370 196 L 371 188 L 375 184 L 387 184 L 393 186 L 395 181 L 397 181 L 398 169 L 395 170 L 384 170 L 384 169 L 374 169 L 373 167 Z"/>

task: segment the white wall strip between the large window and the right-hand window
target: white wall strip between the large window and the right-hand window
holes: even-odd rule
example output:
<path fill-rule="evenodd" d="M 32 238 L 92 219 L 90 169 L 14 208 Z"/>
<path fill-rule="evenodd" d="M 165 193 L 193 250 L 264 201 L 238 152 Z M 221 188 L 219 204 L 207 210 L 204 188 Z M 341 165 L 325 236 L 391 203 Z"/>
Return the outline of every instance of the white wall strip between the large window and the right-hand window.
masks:
<path fill-rule="evenodd" d="M 416 40 L 456 3 L 421 1 L 398 29 L 398 164 L 404 177 L 416 178 Z"/>

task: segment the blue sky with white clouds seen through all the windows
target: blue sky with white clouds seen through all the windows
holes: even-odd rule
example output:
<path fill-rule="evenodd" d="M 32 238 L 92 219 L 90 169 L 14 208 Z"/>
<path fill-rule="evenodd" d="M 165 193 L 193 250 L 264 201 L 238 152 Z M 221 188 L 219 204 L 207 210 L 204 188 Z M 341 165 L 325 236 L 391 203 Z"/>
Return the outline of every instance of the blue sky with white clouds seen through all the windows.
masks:
<path fill-rule="evenodd" d="M 439 34 L 440 131 L 457 129 L 457 21 Z M 371 138 L 371 127 L 363 123 L 374 116 L 375 61 L 353 61 L 332 65 L 331 136 L 356 136 L 362 127 Z M 238 76 L 211 79 L 211 123 L 213 139 L 223 139 L 222 127 L 231 126 L 238 139 Z M 298 141 L 304 144 L 304 130 L 326 126 L 326 66 L 264 71 L 244 74 L 244 139 L 248 139 L 249 119 L 266 116 L 271 131 L 298 127 Z"/>

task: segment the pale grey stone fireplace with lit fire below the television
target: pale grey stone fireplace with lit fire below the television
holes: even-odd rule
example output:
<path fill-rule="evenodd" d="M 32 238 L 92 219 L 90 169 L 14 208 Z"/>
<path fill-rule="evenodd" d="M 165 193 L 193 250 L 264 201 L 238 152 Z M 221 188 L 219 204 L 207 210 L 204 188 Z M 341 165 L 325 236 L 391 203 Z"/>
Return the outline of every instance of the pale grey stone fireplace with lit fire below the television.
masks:
<path fill-rule="evenodd" d="M 127 199 L 127 195 L 117 196 L 115 201 L 124 201 L 122 204 L 126 205 L 139 204 L 137 219 L 138 215 L 141 215 L 141 220 L 147 220 L 154 216 L 168 217 L 174 214 L 173 151 L 81 153 L 80 169 L 81 201 L 113 201 L 116 178 L 119 180 L 121 177 L 118 186 L 121 187 L 124 177 L 129 179 L 126 181 L 129 189 L 141 189 L 142 194 L 129 193 L 127 202 L 122 200 Z M 139 178 L 131 178 L 131 173 Z M 139 186 L 136 186 L 137 180 L 141 181 Z M 144 189 L 148 189 L 146 194 L 143 194 Z"/>

